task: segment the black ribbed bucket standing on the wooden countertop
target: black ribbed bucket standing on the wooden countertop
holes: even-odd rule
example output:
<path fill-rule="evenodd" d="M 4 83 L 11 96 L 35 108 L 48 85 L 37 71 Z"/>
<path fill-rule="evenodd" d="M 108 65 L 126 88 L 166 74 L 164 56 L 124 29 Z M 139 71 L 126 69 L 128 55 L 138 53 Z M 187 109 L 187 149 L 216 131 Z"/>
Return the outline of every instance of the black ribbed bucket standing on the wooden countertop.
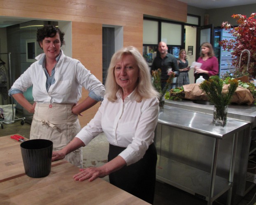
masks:
<path fill-rule="evenodd" d="M 21 143 L 21 155 L 26 175 L 41 178 L 51 172 L 53 142 L 47 139 L 30 139 Z"/>

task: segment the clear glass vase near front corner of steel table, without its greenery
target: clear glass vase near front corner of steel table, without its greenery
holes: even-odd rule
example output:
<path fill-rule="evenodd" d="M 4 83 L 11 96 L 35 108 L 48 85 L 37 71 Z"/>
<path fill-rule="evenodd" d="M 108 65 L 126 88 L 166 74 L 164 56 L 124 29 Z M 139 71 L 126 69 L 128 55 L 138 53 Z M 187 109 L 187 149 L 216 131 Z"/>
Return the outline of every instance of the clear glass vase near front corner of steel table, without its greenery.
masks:
<path fill-rule="evenodd" d="M 214 125 L 225 126 L 228 116 L 228 105 L 214 105 L 213 123 Z"/>

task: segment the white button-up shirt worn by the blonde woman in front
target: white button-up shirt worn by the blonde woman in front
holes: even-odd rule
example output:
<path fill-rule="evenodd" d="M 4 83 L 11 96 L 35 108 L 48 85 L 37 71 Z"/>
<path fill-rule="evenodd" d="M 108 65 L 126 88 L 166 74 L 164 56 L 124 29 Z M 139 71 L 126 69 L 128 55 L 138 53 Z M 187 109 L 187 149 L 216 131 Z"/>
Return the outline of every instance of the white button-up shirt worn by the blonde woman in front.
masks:
<path fill-rule="evenodd" d="M 119 155 L 130 165 L 139 161 L 153 143 L 159 101 L 149 98 L 137 103 L 134 92 L 123 101 L 120 90 L 116 96 L 115 102 L 110 102 L 105 96 L 94 118 L 76 137 L 88 145 L 94 137 L 104 132 L 110 144 L 126 148 Z"/>

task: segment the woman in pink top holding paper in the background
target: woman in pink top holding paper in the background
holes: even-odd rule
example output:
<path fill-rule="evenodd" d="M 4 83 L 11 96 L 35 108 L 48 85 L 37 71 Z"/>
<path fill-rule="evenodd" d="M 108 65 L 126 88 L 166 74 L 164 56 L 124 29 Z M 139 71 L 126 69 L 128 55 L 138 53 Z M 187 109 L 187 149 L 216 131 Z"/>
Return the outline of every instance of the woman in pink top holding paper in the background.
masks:
<path fill-rule="evenodd" d="M 214 56 L 214 50 L 211 43 L 202 43 L 200 57 L 197 62 L 201 63 L 202 66 L 201 68 L 195 67 L 195 81 L 200 77 L 200 75 L 202 75 L 205 80 L 208 80 L 210 76 L 217 75 L 219 73 L 218 59 Z"/>

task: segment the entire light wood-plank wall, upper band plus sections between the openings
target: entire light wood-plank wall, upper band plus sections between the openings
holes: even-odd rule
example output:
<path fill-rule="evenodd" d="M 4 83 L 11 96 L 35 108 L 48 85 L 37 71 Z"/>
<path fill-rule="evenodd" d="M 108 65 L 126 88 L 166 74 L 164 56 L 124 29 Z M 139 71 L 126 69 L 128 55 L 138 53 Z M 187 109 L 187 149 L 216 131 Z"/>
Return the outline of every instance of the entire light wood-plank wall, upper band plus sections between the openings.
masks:
<path fill-rule="evenodd" d="M 99 80 L 102 24 L 123 26 L 123 46 L 142 52 L 144 14 L 185 22 L 187 4 L 177 0 L 0 0 L 0 16 L 72 21 L 72 55 Z M 87 96 L 83 90 L 81 100 Z M 98 104 L 79 117 L 82 127 L 93 118 Z"/>

